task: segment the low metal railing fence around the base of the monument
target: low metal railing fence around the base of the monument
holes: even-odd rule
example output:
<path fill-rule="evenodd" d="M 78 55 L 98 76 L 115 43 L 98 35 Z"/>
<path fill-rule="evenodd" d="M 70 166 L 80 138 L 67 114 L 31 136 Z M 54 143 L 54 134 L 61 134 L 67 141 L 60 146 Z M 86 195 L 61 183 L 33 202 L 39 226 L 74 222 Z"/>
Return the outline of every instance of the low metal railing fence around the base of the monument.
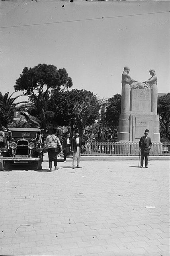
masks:
<path fill-rule="evenodd" d="M 90 142 L 82 156 L 139 156 L 138 142 Z M 150 156 L 170 156 L 170 142 L 152 142 Z"/>

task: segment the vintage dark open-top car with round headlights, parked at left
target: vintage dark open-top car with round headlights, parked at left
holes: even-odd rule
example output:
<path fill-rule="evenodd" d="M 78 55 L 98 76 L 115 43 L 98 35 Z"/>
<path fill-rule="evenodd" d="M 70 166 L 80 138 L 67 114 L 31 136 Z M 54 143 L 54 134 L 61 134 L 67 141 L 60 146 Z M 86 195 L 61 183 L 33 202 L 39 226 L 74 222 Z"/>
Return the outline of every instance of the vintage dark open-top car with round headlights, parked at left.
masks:
<path fill-rule="evenodd" d="M 5 170 L 10 164 L 37 163 L 37 169 L 42 169 L 43 148 L 39 141 L 40 129 L 10 128 L 7 145 L 0 148 L 0 170 Z"/>

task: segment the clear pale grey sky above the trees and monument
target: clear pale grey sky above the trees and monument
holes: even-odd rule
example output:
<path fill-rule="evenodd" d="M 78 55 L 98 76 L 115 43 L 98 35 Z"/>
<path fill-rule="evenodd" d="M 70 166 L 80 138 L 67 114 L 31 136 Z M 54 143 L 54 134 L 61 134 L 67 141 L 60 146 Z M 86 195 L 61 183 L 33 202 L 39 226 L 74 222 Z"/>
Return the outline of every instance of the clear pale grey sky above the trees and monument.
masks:
<path fill-rule="evenodd" d="M 121 94 L 124 66 L 137 81 L 149 79 L 154 68 L 158 92 L 170 92 L 170 1 L 1 1 L 0 6 L 2 93 L 14 92 L 23 68 L 39 63 L 65 68 L 72 89 L 100 98 Z"/>

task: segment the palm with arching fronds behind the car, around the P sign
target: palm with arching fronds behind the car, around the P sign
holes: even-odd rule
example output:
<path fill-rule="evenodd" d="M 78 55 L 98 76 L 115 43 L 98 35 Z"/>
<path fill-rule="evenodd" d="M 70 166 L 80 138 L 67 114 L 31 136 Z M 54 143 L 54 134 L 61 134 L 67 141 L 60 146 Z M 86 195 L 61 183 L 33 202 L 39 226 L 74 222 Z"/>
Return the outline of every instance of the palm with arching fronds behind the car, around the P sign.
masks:
<path fill-rule="evenodd" d="M 15 92 L 9 95 L 9 92 L 6 92 L 5 94 L 0 92 L 0 126 L 3 125 L 8 127 L 8 124 L 13 121 L 15 111 L 20 111 L 22 123 L 34 122 L 39 125 L 39 120 L 35 116 L 29 114 L 33 108 L 35 109 L 35 106 L 28 101 L 15 102 L 16 99 L 23 96 L 23 94 L 12 98 L 14 93 Z"/>

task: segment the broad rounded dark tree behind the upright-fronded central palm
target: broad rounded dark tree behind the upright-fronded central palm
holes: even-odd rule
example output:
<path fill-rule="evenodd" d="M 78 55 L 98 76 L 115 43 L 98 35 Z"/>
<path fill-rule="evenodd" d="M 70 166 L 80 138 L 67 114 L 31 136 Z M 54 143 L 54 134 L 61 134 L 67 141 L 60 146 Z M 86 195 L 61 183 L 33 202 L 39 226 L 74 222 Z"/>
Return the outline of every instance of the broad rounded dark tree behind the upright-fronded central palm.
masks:
<path fill-rule="evenodd" d="M 92 102 L 93 107 L 91 107 Z M 53 125 L 70 125 L 71 131 L 73 132 L 75 126 L 79 126 L 79 129 L 82 129 L 78 124 L 80 122 L 80 116 L 82 117 L 82 114 L 80 114 L 82 106 L 84 106 L 84 110 L 86 109 L 88 111 L 85 123 L 89 125 L 93 124 L 95 119 L 98 119 L 100 104 L 101 100 L 98 100 L 92 92 L 87 90 L 74 89 L 65 92 L 52 92 L 47 106 L 47 116 L 53 116 Z M 90 111 L 88 110 L 88 106 Z"/>

